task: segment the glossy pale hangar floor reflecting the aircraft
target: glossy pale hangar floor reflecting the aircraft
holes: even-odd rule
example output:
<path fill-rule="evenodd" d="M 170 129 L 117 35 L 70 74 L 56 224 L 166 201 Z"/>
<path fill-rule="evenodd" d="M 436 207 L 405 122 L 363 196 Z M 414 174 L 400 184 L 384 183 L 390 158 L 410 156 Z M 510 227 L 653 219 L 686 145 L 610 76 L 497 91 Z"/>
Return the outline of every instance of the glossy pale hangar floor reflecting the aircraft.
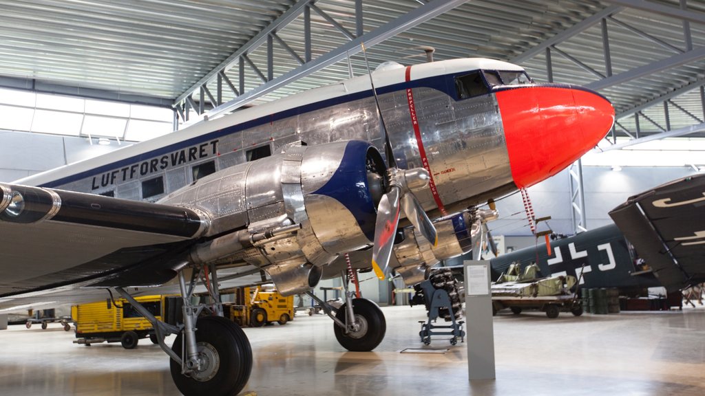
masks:
<path fill-rule="evenodd" d="M 247 328 L 255 364 L 243 395 L 705 395 L 705 308 L 575 318 L 541 313 L 494 318 L 496 380 L 467 380 L 465 344 L 422 348 L 419 307 L 383 308 L 384 341 L 346 352 L 326 316 Z M 173 339 L 173 337 L 171 338 Z M 73 332 L 0 331 L 0 395 L 179 395 L 166 354 L 149 340 L 75 345 Z M 171 342 L 171 341 L 170 341 Z"/>

